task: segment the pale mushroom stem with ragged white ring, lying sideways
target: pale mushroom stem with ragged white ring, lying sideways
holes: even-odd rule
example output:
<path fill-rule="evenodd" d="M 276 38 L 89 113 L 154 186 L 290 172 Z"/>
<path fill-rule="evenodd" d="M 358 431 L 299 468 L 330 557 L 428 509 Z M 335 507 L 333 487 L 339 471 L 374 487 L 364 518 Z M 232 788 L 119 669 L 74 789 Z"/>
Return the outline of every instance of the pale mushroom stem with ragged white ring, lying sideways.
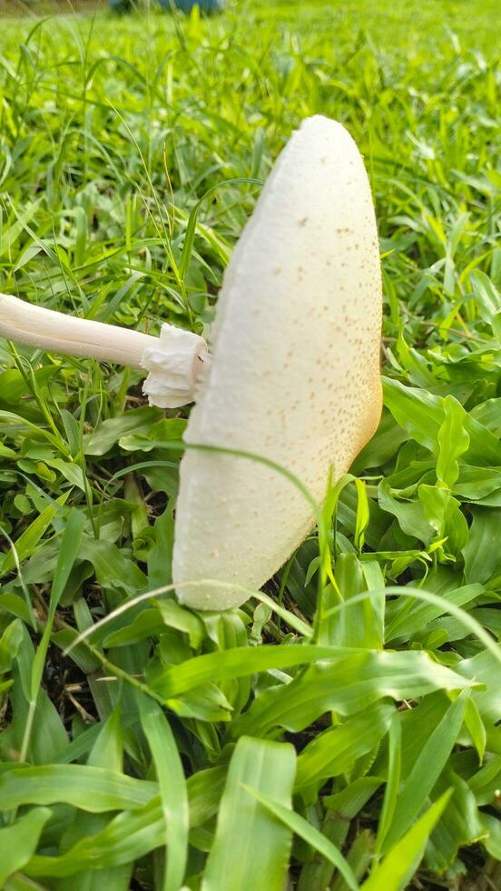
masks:
<path fill-rule="evenodd" d="M 149 372 L 144 393 L 150 405 L 179 408 L 192 402 L 210 357 L 202 337 L 162 325 L 160 337 L 56 313 L 0 294 L 0 336 L 49 352 L 116 362 Z"/>

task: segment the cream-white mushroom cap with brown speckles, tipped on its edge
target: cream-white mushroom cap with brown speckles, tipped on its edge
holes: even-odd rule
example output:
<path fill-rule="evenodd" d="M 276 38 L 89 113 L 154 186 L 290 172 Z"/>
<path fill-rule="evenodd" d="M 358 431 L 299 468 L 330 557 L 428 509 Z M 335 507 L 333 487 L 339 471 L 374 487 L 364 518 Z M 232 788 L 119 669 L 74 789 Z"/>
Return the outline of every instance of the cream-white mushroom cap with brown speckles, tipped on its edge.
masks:
<path fill-rule="evenodd" d="M 319 115 L 290 138 L 228 265 L 212 365 L 185 439 L 265 456 L 321 503 L 381 412 L 378 232 L 357 145 Z M 249 458 L 182 457 L 173 580 L 198 609 L 239 606 L 309 534 L 312 507 Z M 226 583 L 186 586 L 215 579 Z"/>

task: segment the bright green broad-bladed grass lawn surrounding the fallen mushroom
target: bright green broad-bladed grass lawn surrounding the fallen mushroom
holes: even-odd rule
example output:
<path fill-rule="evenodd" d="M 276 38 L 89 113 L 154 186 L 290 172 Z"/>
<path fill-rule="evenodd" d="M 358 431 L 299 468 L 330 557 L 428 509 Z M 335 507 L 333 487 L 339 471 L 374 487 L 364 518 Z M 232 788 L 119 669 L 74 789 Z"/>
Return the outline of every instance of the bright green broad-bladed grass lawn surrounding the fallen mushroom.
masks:
<path fill-rule="evenodd" d="M 322 570 L 314 534 L 269 598 L 207 616 L 171 592 L 68 653 L 170 583 L 158 443 L 183 413 L 0 342 L 6 891 L 501 885 L 496 7 L 4 20 L 3 292 L 201 331 L 259 194 L 228 180 L 263 180 L 322 113 L 366 157 L 386 299 L 386 407 Z"/>

